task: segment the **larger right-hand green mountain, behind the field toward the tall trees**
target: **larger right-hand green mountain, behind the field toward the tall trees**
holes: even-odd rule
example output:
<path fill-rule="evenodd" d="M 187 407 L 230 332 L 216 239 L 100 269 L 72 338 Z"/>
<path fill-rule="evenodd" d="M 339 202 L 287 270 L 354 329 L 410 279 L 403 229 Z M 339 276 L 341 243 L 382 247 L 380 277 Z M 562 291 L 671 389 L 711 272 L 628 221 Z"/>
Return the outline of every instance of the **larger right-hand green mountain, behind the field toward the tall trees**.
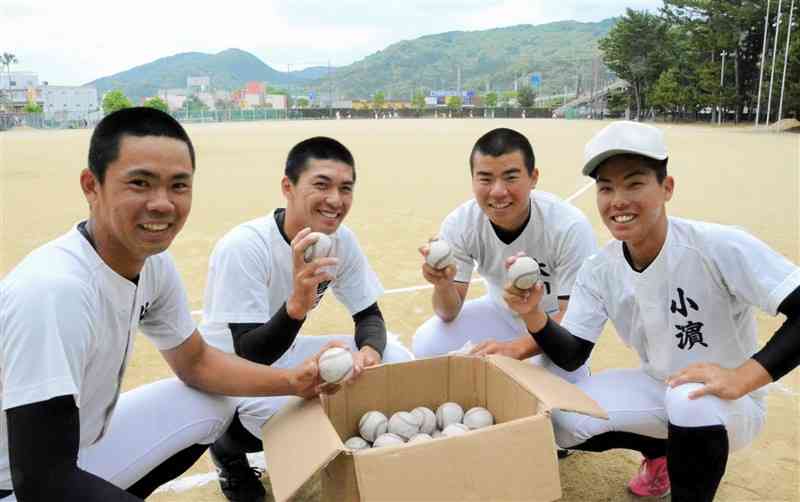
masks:
<path fill-rule="evenodd" d="M 513 88 L 541 74 L 540 94 L 590 87 L 593 71 L 610 78 L 597 61 L 597 42 L 616 19 L 596 23 L 559 21 L 483 31 L 453 31 L 390 45 L 310 86 L 323 95 L 366 98 L 383 91 L 387 99 L 409 99 L 414 89 L 484 92 Z M 596 67 L 596 70 L 595 70 Z"/>

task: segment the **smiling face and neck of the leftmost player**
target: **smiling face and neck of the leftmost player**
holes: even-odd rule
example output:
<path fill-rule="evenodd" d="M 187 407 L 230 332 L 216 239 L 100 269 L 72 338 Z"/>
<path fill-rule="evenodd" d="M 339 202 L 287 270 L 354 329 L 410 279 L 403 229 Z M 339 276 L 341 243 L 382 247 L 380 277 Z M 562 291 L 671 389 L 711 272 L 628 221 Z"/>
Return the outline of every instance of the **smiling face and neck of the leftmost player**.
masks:
<path fill-rule="evenodd" d="M 166 250 L 192 206 L 194 170 L 186 143 L 161 136 L 123 136 L 102 183 L 89 169 L 81 188 L 91 209 L 97 251 L 133 278 L 148 256 Z"/>

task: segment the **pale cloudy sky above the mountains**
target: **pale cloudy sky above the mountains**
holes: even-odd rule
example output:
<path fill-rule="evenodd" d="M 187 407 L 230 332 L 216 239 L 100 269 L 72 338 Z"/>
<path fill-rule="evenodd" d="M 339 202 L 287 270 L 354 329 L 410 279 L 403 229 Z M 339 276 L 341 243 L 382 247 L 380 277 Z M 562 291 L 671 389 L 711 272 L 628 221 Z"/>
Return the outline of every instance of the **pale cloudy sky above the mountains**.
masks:
<path fill-rule="evenodd" d="M 389 44 L 454 30 L 599 21 L 661 0 L 0 0 L 0 52 L 40 80 L 78 85 L 179 52 L 236 47 L 285 71 L 341 66 Z"/>

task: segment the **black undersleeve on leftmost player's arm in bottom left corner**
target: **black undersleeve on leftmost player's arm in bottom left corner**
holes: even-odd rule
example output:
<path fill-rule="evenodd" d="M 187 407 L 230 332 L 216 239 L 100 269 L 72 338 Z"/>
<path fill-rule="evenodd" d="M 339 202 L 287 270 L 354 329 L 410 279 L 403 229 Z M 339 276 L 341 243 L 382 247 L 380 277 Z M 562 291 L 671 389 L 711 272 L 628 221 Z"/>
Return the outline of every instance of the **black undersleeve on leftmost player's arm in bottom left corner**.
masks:
<path fill-rule="evenodd" d="M 72 396 L 6 410 L 11 481 L 19 502 L 142 499 L 78 468 L 80 422 Z"/>

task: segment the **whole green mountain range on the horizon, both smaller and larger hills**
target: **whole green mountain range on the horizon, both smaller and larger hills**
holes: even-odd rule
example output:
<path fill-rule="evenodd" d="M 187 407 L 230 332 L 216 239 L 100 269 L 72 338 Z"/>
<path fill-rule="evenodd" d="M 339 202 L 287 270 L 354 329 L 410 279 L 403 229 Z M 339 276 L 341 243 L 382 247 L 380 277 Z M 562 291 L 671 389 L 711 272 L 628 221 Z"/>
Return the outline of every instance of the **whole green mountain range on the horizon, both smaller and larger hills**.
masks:
<path fill-rule="evenodd" d="M 597 41 L 616 19 L 596 23 L 559 21 L 517 25 L 483 31 L 452 31 L 392 44 L 351 65 L 317 66 L 291 73 L 271 68 L 239 49 L 218 54 L 176 54 L 87 85 L 100 94 L 120 89 L 132 98 L 156 94 L 162 88 L 183 88 L 186 77 L 211 77 L 214 88 L 233 90 L 245 82 L 285 86 L 293 93 L 313 91 L 319 96 L 370 98 L 383 91 L 387 99 L 410 99 L 415 89 L 461 89 L 484 92 L 513 88 L 541 75 L 539 94 L 559 94 L 576 86 L 587 89 L 597 74 L 610 78 L 599 64 Z"/>

